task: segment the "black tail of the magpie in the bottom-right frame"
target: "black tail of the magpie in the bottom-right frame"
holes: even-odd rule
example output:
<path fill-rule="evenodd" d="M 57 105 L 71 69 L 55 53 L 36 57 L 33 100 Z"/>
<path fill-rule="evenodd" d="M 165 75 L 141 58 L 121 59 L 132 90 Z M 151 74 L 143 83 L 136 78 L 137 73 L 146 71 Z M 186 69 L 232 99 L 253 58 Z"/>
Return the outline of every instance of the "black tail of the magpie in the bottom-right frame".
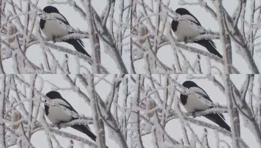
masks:
<path fill-rule="evenodd" d="M 216 113 L 211 113 L 211 114 L 207 114 L 204 115 L 204 117 L 208 118 L 209 120 L 215 122 L 216 124 L 218 124 L 221 128 L 224 128 L 228 131 L 231 131 L 229 125 L 227 125 L 227 123 L 225 122 L 225 120 L 221 117 L 221 115 L 216 114 Z"/>

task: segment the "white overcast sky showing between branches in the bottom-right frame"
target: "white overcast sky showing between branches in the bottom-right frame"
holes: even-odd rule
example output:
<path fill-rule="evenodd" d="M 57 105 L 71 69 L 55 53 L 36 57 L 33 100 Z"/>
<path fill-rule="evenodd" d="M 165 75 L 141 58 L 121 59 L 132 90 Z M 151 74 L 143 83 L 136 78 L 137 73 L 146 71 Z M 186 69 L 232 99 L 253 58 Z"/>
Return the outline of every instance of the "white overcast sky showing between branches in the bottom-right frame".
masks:
<path fill-rule="evenodd" d="M 201 77 L 201 76 L 205 76 L 205 75 L 204 74 L 197 74 L 195 76 Z M 258 75 L 256 75 L 256 76 L 257 77 L 255 77 L 255 81 L 257 82 L 260 78 L 259 78 Z M 156 80 L 159 81 L 159 76 L 157 74 L 154 74 L 153 77 Z M 189 77 L 190 76 L 188 74 L 180 74 L 177 81 L 182 84 L 184 81 L 188 80 Z M 215 75 L 215 77 L 217 78 L 217 80 L 219 80 L 223 84 L 221 77 L 219 75 Z M 245 77 L 246 76 L 244 74 L 231 74 L 231 79 L 238 89 L 241 88 L 241 86 L 242 86 L 242 84 L 245 80 Z M 162 80 L 162 82 L 164 82 L 163 78 L 161 80 Z M 217 86 L 214 86 L 214 84 L 211 81 L 209 81 L 207 79 L 192 79 L 192 81 L 194 81 L 203 90 L 205 90 L 205 92 L 207 92 L 207 94 L 209 95 L 209 97 L 211 98 L 211 100 L 214 103 L 219 103 L 220 105 L 226 105 L 225 94 L 223 94 Z M 151 85 L 150 82 L 148 83 L 148 85 L 149 86 Z M 144 85 L 144 86 L 146 86 L 146 85 Z M 258 85 L 258 83 L 256 83 L 256 85 L 254 86 L 254 90 L 255 90 L 254 92 L 255 93 L 257 92 L 259 87 L 260 86 Z M 159 92 L 161 94 L 161 97 L 163 97 L 163 90 L 160 90 Z M 248 94 L 246 96 L 248 96 Z M 151 95 L 151 97 L 153 98 L 153 95 Z M 155 101 L 157 102 L 157 99 L 155 99 Z M 182 105 L 181 105 L 181 110 L 186 112 Z M 228 118 L 229 117 L 228 114 L 223 113 L 223 115 L 225 116 L 225 119 L 226 119 L 226 122 L 228 123 L 228 125 L 230 125 L 230 119 Z M 208 120 L 204 117 L 196 117 L 195 119 L 202 120 L 202 121 L 208 122 L 210 124 L 216 125 L 215 123 L 211 122 L 210 120 Z M 194 131 L 198 135 L 198 137 L 201 139 L 202 133 L 203 133 L 203 128 L 199 127 L 197 125 L 191 124 L 191 123 L 189 123 L 189 124 L 194 129 Z M 150 125 L 148 124 L 148 126 L 150 126 Z M 182 137 L 181 124 L 180 124 L 180 121 L 179 121 L 178 118 L 175 118 L 175 119 L 172 119 L 171 121 L 169 121 L 166 124 L 165 131 L 171 137 L 173 137 L 174 139 L 176 139 L 178 141 L 180 141 L 180 139 L 183 138 Z M 187 129 L 187 131 L 189 131 L 189 129 Z M 188 132 L 188 133 L 190 133 L 190 132 Z M 208 142 L 209 142 L 210 147 L 216 148 L 215 147 L 215 142 L 216 142 L 215 139 L 216 138 L 215 138 L 214 130 L 208 129 L 208 133 L 209 133 L 209 135 L 208 135 L 209 141 Z M 189 136 L 191 136 L 191 134 L 189 134 Z M 224 136 L 223 134 L 219 134 L 219 136 L 220 136 L 220 140 L 225 140 L 229 143 L 231 142 L 230 137 Z M 189 138 L 192 138 L 192 137 L 189 137 Z M 241 119 L 241 138 L 245 141 L 245 143 L 249 146 L 249 148 L 259 148 L 259 145 L 256 141 L 255 135 L 253 135 L 253 133 L 250 132 L 249 129 L 246 129 L 244 127 L 244 123 L 243 123 L 242 119 Z M 152 134 L 148 134 L 148 135 L 142 137 L 142 141 L 143 141 L 145 148 L 153 148 L 153 140 L 154 139 L 152 138 Z M 197 148 L 200 148 L 199 146 L 200 145 L 198 145 Z M 221 146 L 222 146 L 222 144 L 221 144 Z"/>

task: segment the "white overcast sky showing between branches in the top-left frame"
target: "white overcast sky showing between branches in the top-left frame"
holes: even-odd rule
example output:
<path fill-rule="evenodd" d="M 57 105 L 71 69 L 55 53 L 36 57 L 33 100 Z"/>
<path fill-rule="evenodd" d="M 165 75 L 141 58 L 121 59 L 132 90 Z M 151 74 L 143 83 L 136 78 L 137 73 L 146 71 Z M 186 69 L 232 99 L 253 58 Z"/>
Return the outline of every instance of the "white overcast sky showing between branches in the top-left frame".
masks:
<path fill-rule="evenodd" d="M 45 6 L 49 5 L 47 3 L 47 1 L 48 0 L 39 0 L 38 7 L 40 9 L 43 9 Z M 77 2 L 77 4 L 80 5 L 80 7 L 83 10 L 85 10 L 84 7 L 82 6 L 80 0 L 76 0 L 76 2 Z M 103 0 L 91 0 L 91 3 L 92 3 L 92 6 L 94 7 L 94 9 L 96 10 L 96 12 L 101 16 L 101 13 L 106 6 L 106 1 L 105 0 L 104 1 Z M 23 4 L 25 4 L 25 2 Z M 128 4 L 128 1 L 125 2 L 125 5 L 127 5 L 127 4 Z M 72 27 L 74 27 L 76 29 L 79 28 L 81 31 L 85 31 L 85 32 L 89 31 L 88 24 L 87 24 L 85 18 L 82 18 L 80 16 L 80 14 L 74 10 L 73 7 L 71 7 L 67 4 L 53 4 L 52 6 L 55 6 L 59 10 L 59 12 L 68 20 L 68 22 L 70 23 L 70 25 Z M 117 21 L 119 20 L 119 9 L 120 9 L 119 0 L 116 0 L 114 15 L 115 15 L 115 19 Z M 110 19 L 110 17 L 109 17 L 109 19 Z M 107 22 L 109 22 L 109 19 Z M 40 21 L 40 19 L 38 18 L 37 22 L 39 22 L 39 21 Z M 117 32 L 116 28 L 114 29 L 114 31 Z M 127 34 L 128 34 L 128 30 L 126 31 L 125 36 Z M 82 39 L 82 40 L 85 45 L 84 49 L 91 55 L 92 49 L 90 48 L 89 39 Z M 128 38 L 123 39 L 123 44 L 127 43 L 127 42 L 129 42 Z M 71 46 L 70 44 L 63 43 L 63 42 L 57 42 L 56 44 L 62 45 L 64 47 L 67 47 L 67 48 L 75 51 L 74 47 Z M 101 64 L 102 64 L 102 66 L 104 66 L 109 71 L 110 74 L 120 73 L 120 71 L 116 67 L 116 64 L 115 64 L 113 58 L 111 56 L 109 56 L 107 53 L 105 53 L 104 44 L 103 44 L 103 41 L 101 41 L 101 39 L 100 39 L 100 46 L 101 46 Z M 61 52 L 58 52 L 55 50 L 51 50 L 51 51 L 54 53 L 54 55 L 56 56 L 58 61 L 60 61 L 60 63 L 62 63 L 62 59 L 64 59 L 64 54 L 61 54 Z M 129 70 L 129 68 L 130 68 L 129 45 L 123 46 L 122 54 L 123 54 L 123 56 L 122 56 L 123 62 L 125 63 L 126 68 Z M 40 48 L 39 44 L 29 47 L 28 51 L 26 52 L 26 55 L 30 61 L 32 61 L 33 63 L 35 63 L 38 66 L 40 66 L 40 64 L 43 62 L 42 49 Z M 69 55 L 69 66 L 71 68 L 72 74 L 76 73 L 76 67 L 74 66 L 75 63 L 76 63 L 75 56 Z M 13 67 L 11 66 L 12 64 L 13 64 L 13 60 L 11 58 L 3 60 L 3 66 L 4 66 L 4 70 L 5 70 L 6 74 L 14 74 Z M 82 62 L 81 64 L 87 66 L 89 68 L 89 70 L 91 70 L 91 67 L 88 63 Z"/>

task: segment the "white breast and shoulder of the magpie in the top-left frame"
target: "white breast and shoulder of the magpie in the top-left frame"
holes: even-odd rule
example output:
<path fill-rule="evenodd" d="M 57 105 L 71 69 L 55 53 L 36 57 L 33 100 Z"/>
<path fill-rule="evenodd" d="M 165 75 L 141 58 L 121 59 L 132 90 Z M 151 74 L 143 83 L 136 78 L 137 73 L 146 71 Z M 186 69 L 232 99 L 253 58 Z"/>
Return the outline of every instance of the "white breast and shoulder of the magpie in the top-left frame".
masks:
<path fill-rule="evenodd" d="M 60 14 L 57 13 L 50 13 L 51 16 L 58 19 L 63 19 Z M 66 20 L 65 20 L 66 21 Z M 60 23 L 56 22 L 55 20 L 46 20 L 44 24 L 44 28 L 42 29 L 43 34 L 47 38 L 58 37 L 58 36 L 65 36 L 68 34 L 66 28 L 60 25 Z"/>

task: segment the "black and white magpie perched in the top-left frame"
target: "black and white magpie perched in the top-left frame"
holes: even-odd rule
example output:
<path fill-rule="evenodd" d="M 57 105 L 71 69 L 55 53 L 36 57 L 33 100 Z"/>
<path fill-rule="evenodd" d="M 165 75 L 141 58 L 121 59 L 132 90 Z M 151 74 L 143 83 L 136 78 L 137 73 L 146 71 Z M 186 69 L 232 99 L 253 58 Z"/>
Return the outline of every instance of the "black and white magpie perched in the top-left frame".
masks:
<path fill-rule="evenodd" d="M 60 20 L 61 22 L 63 22 L 66 25 L 69 25 L 69 22 L 67 21 L 67 19 L 65 19 L 65 17 L 60 14 L 60 12 L 58 11 L 58 9 L 56 7 L 53 6 L 46 6 L 43 8 L 43 11 L 50 14 L 52 17 L 54 17 L 55 19 Z M 65 36 L 70 34 L 71 32 L 68 32 L 68 30 L 63 27 L 62 25 L 60 25 L 60 23 L 58 23 L 57 21 L 53 20 L 53 19 L 40 19 L 40 28 L 41 31 L 43 32 L 43 34 L 50 39 L 55 40 L 55 37 L 61 37 L 61 36 Z M 69 43 L 71 45 L 74 46 L 74 48 L 86 55 L 91 57 L 85 50 L 84 50 L 84 45 L 81 39 L 67 39 L 67 40 L 63 40 L 66 43 Z"/>

